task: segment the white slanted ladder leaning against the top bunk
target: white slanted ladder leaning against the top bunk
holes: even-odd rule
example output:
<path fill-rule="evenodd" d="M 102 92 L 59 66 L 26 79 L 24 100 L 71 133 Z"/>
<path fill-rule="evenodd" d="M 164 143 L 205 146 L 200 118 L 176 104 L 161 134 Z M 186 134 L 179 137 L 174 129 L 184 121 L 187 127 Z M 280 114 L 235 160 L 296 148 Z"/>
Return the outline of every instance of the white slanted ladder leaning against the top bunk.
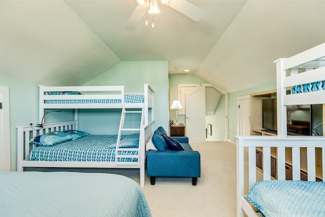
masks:
<path fill-rule="evenodd" d="M 120 126 L 118 130 L 117 142 L 116 142 L 116 150 L 115 150 L 115 166 L 118 165 L 138 165 L 140 167 L 140 138 L 138 148 L 121 148 L 120 141 L 121 135 L 123 131 L 138 131 L 140 133 L 140 127 L 144 123 L 144 107 L 141 110 L 126 110 L 125 104 L 123 104 Z M 141 113 L 141 123 L 139 128 L 124 128 L 125 116 L 127 113 Z M 137 159 L 137 161 L 132 162 L 124 162 L 123 158 L 130 158 L 130 155 L 123 154 L 122 151 L 138 151 L 137 155 L 132 155 L 133 159 Z"/>

